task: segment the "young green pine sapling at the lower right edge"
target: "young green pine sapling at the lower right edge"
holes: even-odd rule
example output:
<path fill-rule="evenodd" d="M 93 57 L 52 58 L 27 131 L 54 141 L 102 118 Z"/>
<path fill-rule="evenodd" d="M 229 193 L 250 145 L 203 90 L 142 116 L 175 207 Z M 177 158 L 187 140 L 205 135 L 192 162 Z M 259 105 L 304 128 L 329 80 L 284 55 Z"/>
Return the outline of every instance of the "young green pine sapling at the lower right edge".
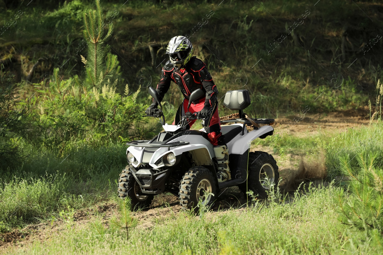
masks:
<path fill-rule="evenodd" d="M 340 220 L 361 230 L 383 234 L 383 169 L 375 166 L 377 153 L 357 154 L 360 169 L 357 173 L 350 168 L 349 157 L 340 159 L 341 169 L 350 177 L 349 189 L 353 196 L 349 201 L 340 201 Z M 340 193 L 339 197 L 343 195 Z"/>

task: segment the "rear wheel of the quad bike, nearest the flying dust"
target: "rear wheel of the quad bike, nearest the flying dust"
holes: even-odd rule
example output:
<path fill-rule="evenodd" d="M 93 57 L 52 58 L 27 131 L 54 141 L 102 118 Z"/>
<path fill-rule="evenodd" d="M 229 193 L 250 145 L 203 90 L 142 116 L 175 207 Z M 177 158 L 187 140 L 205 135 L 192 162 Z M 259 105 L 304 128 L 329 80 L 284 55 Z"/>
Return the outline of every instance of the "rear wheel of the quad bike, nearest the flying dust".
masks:
<path fill-rule="evenodd" d="M 267 198 L 269 184 L 277 190 L 279 172 L 277 162 L 272 155 L 263 151 L 250 152 L 248 171 L 247 181 L 239 185 L 242 192 L 252 190 L 259 195 L 259 198 Z"/>

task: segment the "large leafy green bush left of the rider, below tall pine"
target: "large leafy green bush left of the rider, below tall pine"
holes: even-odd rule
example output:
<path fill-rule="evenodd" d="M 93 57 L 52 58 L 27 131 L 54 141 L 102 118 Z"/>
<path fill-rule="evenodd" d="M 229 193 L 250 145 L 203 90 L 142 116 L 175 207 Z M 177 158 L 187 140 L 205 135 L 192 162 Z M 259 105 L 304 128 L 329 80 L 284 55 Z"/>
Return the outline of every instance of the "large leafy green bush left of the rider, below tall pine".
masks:
<path fill-rule="evenodd" d="M 108 84 L 88 91 L 79 85 L 77 77 L 62 81 L 58 72 L 56 68 L 52 86 L 45 88 L 40 84 L 39 96 L 27 102 L 33 107 L 31 118 L 39 129 L 33 137 L 36 145 L 57 150 L 61 155 L 82 145 L 100 147 L 118 142 L 119 136 L 125 140 L 134 136 L 133 123 L 141 121 L 145 108 L 136 103 L 140 89 L 124 96 Z"/>

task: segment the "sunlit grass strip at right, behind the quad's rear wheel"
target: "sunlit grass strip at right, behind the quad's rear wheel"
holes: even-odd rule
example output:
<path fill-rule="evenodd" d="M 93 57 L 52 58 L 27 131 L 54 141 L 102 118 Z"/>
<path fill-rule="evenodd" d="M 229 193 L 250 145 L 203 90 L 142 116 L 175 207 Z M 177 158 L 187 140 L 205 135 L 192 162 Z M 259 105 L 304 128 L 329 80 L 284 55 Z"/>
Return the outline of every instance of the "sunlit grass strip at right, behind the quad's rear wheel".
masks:
<path fill-rule="evenodd" d="M 318 132 L 316 135 L 304 138 L 282 134 L 257 139 L 254 145 L 268 146 L 275 152 L 281 148 L 285 153 L 298 155 L 313 155 L 323 153 L 326 156 L 327 174 L 331 180 L 334 176 L 343 175 L 340 171 L 340 157 L 348 156 L 350 167 L 358 168 L 355 156 L 362 150 L 367 153 L 378 153 L 376 166 L 383 166 L 383 124 L 373 122 L 361 128 L 349 128 L 338 135 Z"/>

